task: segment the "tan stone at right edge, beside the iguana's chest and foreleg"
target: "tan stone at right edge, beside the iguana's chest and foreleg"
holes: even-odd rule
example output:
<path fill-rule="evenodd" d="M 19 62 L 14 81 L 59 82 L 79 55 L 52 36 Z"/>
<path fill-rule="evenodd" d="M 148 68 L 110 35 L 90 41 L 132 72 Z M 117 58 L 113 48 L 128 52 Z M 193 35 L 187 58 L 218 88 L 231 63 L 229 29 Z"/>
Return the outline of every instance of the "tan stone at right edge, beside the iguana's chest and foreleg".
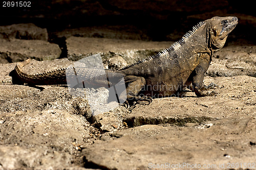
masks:
<path fill-rule="evenodd" d="M 229 45 L 214 53 L 206 75 L 211 77 L 248 75 L 256 77 L 256 46 Z"/>

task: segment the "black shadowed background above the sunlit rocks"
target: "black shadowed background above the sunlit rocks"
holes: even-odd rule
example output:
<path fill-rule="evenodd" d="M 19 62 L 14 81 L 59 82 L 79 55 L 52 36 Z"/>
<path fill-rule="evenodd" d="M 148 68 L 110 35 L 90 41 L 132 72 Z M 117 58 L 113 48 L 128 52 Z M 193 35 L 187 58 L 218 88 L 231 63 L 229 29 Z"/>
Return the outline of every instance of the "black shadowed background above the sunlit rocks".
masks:
<path fill-rule="evenodd" d="M 162 41 L 177 40 L 196 23 L 213 16 L 237 16 L 239 25 L 229 40 L 255 42 L 256 12 L 252 1 L 54 0 L 33 1 L 31 7 L 3 7 L 2 1 L 0 25 L 34 23 L 47 28 L 49 40 L 64 29 L 133 26 L 134 31 L 141 30 L 150 37 L 145 40 Z"/>

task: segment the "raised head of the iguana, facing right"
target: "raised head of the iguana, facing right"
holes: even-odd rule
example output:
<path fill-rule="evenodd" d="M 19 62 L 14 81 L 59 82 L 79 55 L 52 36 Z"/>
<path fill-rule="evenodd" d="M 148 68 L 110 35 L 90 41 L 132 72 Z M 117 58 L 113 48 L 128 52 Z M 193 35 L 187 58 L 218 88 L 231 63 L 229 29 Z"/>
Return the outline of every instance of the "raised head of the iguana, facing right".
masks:
<path fill-rule="evenodd" d="M 210 47 L 219 50 L 226 42 L 228 34 L 237 26 L 238 18 L 234 16 L 213 17 L 210 20 Z"/>

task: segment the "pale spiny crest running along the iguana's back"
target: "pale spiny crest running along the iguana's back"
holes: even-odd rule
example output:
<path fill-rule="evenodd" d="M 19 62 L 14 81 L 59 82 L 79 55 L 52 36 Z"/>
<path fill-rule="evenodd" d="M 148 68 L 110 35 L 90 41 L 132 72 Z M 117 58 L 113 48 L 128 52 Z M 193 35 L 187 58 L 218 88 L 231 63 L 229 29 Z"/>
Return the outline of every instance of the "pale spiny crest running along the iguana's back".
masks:
<path fill-rule="evenodd" d="M 164 56 L 165 54 L 167 54 L 171 51 L 175 51 L 177 48 L 179 48 L 181 45 L 183 45 L 188 40 L 188 38 L 191 37 L 191 35 L 193 35 L 203 25 L 205 25 L 204 21 L 199 22 L 196 26 L 194 26 L 192 28 L 192 31 L 188 31 L 186 34 L 184 34 L 184 36 L 179 41 L 176 41 L 175 43 L 170 45 L 168 48 L 162 50 L 161 52 L 157 53 L 156 55 L 148 56 L 148 57 L 146 57 L 142 60 L 139 60 L 139 61 L 137 61 L 133 64 L 126 65 L 123 68 L 121 68 L 120 70 L 135 66 L 135 65 L 137 65 L 139 63 L 143 63 L 145 61 L 150 61 L 150 60 L 152 60 L 154 58 L 157 58 L 157 57 L 160 57 L 160 56 Z"/>

